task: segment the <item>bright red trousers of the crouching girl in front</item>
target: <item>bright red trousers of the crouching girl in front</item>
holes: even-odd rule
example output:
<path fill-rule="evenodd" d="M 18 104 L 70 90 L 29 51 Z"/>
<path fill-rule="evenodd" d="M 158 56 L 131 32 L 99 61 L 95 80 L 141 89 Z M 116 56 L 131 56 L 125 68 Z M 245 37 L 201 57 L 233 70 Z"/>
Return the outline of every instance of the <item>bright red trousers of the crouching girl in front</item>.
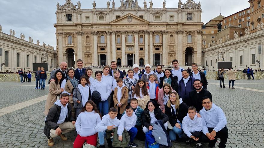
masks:
<path fill-rule="evenodd" d="M 75 138 L 75 141 L 73 143 L 73 148 L 82 148 L 84 142 L 86 141 L 87 144 L 91 144 L 96 147 L 97 144 L 97 133 L 95 135 L 82 137 L 79 134 Z"/>

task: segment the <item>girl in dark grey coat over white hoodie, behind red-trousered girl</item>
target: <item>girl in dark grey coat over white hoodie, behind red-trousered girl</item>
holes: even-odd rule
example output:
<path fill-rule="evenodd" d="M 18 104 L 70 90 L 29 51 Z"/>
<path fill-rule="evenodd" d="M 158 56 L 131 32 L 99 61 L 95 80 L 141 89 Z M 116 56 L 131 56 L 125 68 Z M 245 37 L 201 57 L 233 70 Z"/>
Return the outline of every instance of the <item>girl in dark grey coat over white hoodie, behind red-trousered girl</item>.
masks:
<path fill-rule="evenodd" d="M 73 107 L 76 108 L 76 118 L 80 114 L 85 103 L 91 99 L 91 90 L 87 86 L 88 79 L 85 76 L 80 77 L 78 86 L 73 89 Z"/>

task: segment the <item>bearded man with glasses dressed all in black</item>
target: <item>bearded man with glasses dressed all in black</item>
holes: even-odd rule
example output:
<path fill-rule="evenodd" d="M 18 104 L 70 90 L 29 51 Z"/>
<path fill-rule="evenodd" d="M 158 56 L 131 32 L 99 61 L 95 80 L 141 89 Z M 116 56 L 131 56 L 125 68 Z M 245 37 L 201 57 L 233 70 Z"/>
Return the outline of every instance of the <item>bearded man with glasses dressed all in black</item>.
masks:
<path fill-rule="evenodd" d="M 208 90 L 202 88 L 202 83 L 199 79 L 194 80 L 193 86 L 195 89 L 190 91 L 187 105 L 194 106 L 196 111 L 199 113 L 203 108 L 201 104 L 202 97 L 207 96 L 212 99 L 212 94 Z"/>

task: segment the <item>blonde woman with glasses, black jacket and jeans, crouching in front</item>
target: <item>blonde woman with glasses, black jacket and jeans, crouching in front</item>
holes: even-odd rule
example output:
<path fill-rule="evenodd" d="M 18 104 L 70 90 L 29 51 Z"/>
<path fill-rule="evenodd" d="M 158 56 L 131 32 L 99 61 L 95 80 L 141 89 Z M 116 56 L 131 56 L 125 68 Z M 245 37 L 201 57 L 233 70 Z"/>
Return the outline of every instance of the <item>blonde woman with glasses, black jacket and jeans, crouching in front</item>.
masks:
<path fill-rule="evenodd" d="M 176 140 L 176 134 L 179 138 L 182 138 L 182 120 L 187 113 L 188 106 L 182 102 L 182 98 L 179 98 L 177 92 L 172 92 L 168 103 L 165 105 L 165 114 L 168 115 L 170 125 L 173 126 L 173 129 L 169 132 L 171 141 Z"/>

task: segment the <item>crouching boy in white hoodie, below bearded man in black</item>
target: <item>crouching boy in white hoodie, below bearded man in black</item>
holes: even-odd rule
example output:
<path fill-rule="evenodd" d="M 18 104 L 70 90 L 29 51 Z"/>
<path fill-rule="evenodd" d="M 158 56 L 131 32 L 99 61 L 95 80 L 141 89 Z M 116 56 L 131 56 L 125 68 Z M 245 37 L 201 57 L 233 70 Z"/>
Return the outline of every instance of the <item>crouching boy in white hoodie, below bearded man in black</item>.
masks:
<path fill-rule="evenodd" d="M 182 120 L 182 129 L 184 134 L 182 139 L 186 141 L 187 145 L 191 145 L 193 140 L 197 141 L 196 148 L 202 148 L 201 136 L 202 136 L 203 119 L 197 117 L 196 108 L 190 106 L 188 108 L 188 114 Z"/>

